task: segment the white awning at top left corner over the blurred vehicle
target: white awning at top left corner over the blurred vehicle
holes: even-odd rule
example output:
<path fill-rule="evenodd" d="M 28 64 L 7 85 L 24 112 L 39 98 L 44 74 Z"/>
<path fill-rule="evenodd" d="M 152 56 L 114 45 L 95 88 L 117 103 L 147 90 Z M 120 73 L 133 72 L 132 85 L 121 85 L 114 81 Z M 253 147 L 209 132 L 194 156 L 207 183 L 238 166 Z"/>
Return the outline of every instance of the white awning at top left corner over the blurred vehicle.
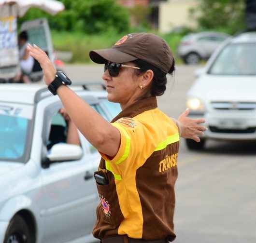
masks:
<path fill-rule="evenodd" d="M 0 8 L 3 4 L 17 6 L 17 17 L 26 14 L 31 7 L 40 8 L 52 15 L 65 9 L 64 4 L 57 0 L 0 0 Z"/>

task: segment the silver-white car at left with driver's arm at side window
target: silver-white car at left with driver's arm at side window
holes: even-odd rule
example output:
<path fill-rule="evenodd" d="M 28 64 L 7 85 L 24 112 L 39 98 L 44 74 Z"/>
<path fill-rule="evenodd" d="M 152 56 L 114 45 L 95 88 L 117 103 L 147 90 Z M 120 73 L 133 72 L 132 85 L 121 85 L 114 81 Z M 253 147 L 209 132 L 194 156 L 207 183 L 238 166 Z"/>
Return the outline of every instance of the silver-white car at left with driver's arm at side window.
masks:
<path fill-rule="evenodd" d="M 121 110 L 105 91 L 73 90 L 108 121 Z M 1 243 L 94 240 L 100 154 L 81 134 L 81 147 L 57 143 L 47 151 L 50 137 L 67 126 L 61 107 L 45 86 L 0 85 Z"/>

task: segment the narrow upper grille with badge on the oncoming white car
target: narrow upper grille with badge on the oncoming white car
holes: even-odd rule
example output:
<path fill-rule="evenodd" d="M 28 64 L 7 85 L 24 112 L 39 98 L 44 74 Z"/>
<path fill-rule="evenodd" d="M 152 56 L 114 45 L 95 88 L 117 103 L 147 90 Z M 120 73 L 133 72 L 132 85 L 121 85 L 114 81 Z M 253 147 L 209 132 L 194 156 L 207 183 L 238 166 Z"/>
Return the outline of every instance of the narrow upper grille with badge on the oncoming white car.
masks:
<path fill-rule="evenodd" d="M 211 102 L 213 109 L 254 110 L 256 102 Z"/>

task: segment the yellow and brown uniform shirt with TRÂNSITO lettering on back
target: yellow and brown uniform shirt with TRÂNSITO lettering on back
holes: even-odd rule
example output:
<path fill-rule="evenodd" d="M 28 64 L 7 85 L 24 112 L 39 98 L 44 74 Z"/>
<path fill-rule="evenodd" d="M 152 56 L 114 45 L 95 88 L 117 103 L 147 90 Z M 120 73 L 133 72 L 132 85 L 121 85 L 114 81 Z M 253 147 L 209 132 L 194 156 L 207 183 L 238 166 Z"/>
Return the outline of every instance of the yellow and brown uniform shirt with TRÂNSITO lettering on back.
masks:
<path fill-rule="evenodd" d="M 124 109 L 112 125 L 121 144 L 112 160 L 102 154 L 97 173 L 109 184 L 97 185 L 101 203 L 93 235 L 174 240 L 176 124 L 157 108 L 156 97 L 150 97 Z"/>

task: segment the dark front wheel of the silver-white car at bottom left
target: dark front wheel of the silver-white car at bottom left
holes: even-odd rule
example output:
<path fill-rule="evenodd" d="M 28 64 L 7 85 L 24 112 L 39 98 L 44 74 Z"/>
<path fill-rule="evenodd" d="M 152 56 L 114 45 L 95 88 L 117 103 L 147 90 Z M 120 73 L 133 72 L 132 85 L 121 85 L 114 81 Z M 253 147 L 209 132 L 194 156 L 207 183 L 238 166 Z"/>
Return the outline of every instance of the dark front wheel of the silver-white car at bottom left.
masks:
<path fill-rule="evenodd" d="M 26 221 L 19 215 L 15 215 L 5 234 L 4 243 L 32 243 Z"/>

